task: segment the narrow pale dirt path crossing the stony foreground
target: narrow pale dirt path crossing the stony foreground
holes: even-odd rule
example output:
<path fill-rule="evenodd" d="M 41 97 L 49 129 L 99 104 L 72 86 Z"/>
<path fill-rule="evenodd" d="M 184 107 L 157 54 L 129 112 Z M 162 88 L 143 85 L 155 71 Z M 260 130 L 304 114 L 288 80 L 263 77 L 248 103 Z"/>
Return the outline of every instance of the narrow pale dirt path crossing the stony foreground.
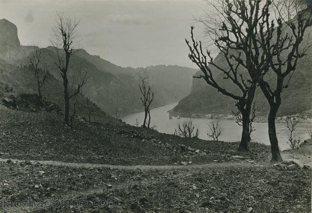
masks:
<path fill-rule="evenodd" d="M 0 162 L 6 162 L 8 158 L 0 158 Z M 24 160 L 11 159 L 15 162 L 24 162 Z M 30 160 L 30 162 L 38 162 L 44 165 L 51 166 L 68 166 L 73 168 L 111 168 L 111 169 L 124 169 L 124 170 L 188 170 L 193 168 L 226 168 L 226 167 L 259 167 L 267 166 L 263 164 L 253 164 L 246 161 L 240 162 L 222 162 L 222 163 L 206 163 L 206 164 L 189 164 L 189 165 L 135 165 L 135 166 L 122 166 L 122 165 L 110 165 L 110 164 L 91 164 L 91 163 L 70 163 L 70 162 L 61 162 L 53 160 Z"/>

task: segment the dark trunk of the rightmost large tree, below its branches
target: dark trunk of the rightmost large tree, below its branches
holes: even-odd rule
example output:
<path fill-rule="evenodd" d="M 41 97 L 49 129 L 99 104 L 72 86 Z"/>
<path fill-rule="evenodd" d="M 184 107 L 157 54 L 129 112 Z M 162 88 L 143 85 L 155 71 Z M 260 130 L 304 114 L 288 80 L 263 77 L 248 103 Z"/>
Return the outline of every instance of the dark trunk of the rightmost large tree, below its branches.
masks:
<path fill-rule="evenodd" d="M 278 111 L 279 105 L 272 104 L 270 105 L 270 113 L 268 116 L 268 127 L 269 127 L 269 139 L 271 143 L 271 153 L 272 160 L 271 161 L 282 161 L 281 154 L 279 153 L 278 140 L 276 136 L 276 128 L 275 128 L 275 118 Z"/>

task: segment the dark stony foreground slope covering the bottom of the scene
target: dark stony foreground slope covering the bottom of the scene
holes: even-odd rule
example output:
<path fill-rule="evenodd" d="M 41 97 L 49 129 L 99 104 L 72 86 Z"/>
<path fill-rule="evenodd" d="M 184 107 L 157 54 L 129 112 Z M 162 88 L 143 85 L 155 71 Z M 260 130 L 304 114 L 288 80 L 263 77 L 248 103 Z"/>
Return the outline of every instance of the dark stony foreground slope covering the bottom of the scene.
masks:
<path fill-rule="evenodd" d="M 310 155 L 271 165 L 257 143 L 239 153 L 132 126 L 70 130 L 53 112 L 0 106 L 0 117 L 6 212 L 311 212 L 311 167 L 300 162 Z"/>

